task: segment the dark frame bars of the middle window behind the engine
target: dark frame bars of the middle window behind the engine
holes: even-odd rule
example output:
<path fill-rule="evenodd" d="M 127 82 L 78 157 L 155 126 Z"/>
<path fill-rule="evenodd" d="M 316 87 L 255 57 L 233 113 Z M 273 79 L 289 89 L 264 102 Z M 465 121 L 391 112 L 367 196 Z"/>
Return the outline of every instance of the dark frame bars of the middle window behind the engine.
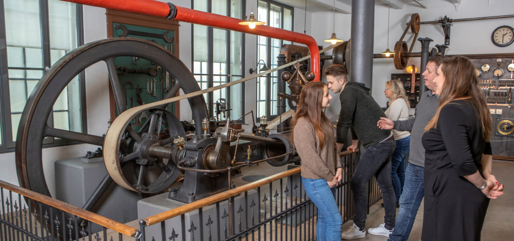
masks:
<path fill-rule="evenodd" d="M 211 13 L 212 12 L 212 0 L 206 0 L 207 1 L 207 12 Z M 227 0 L 227 16 L 228 17 L 232 17 L 231 16 L 231 0 Z M 191 0 L 191 9 L 194 9 L 194 0 Z M 242 1 L 241 3 L 241 15 L 245 15 L 245 10 L 246 10 L 246 1 Z M 199 74 L 199 73 L 195 73 L 195 70 L 194 70 L 194 51 L 195 51 L 195 48 L 194 48 L 194 24 L 191 24 L 191 72 L 193 73 L 193 75 L 201 75 L 201 76 L 206 76 L 207 77 L 207 88 L 211 88 L 214 86 L 214 76 L 220 76 L 220 77 L 223 77 L 225 76 L 227 78 L 227 82 L 226 83 L 229 83 L 232 81 L 232 77 L 241 77 L 241 78 L 245 78 L 245 50 L 246 50 L 246 45 L 245 45 L 245 39 L 246 39 L 246 34 L 245 33 L 241 33 L 241 32 L 238 32 L 238 33 L 241 33 L 241 75 L 232 75 L 231 72 L 230 72 L 230 42 L 231 42 L 231 31 L 232 30 L 226 30 L 226 29 L 221 29 L 221 30 L 225 30 L 227 31 L 226 33 L 226 39 L 227 39 L 227 73 L 226 74 L 214 74 L 213 72 L 213 69 L 214 69 L 214 62 L 213 62 L 213 59 L 214 59 L 214 51 L 213 51 L 213 45 L 214 45 L 214 29 L 218 29 L 218 28 L 215 28 L 215 27 L 210 27 L 210 26 L 207 26 L 207 74 Z M 237 31 L 234 31 L 234 32 L 237 32 Z M 203 68 L 200 64 L 200 68 Z M 201 89 L 201 85 L 200 86 L 200 89 Z M 241 83 L 241 96 L 244 96 L 244 93 L 245 93 L 245 83 Z M 227 87 L 225 88 L 225 95 L 226 95 L 226 103 L 227 103 L 227 109 L 232 109 L 232 106 L 231 106 L 231 99 L 230 99 L 230 87 Z M 213 92 L 208 92 L 207 93 L 207 98 L 206 99 L 206 102 L 208 103 L 207 105 L 207 110 L 208 110 L 208 113 L 209 113 L 209 118 L 215 116 L 214 115 L 214 97 L 213 97 Z M 216 100 L 217 101 L 217 100 Z M 241 116 L 243 116 L 245 114 L 245 99 L 244 98 L 241 98 Z M 241 116 L 238 116 L 238 117 L 241 117 Z M 228 117 L 231 117 L 231 112 L 229 111 L 228 114 L 227 114 L 227 118 Z M 232 118 L 231 118 L 232 119 Z M 237 121 L 237 124 L 244 124 L 245 123 L 245 117 L 241 118 L 239 121 Z"/>

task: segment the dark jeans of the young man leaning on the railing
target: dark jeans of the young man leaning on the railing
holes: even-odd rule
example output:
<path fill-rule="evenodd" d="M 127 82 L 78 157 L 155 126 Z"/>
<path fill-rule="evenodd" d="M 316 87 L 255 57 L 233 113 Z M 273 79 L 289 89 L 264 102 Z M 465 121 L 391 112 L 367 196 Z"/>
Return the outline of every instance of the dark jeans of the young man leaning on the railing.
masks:
<path fill-rule="evenodd" d="M 351 180 L 351 187 L 355 200 L 354 224 L 363 230 L 366 224 L 368 197 L 365 185 L 373 175 L 377 178 L 378 186 L 382 191 L 386 216 L 384 221 L 387 229 L 393 229 L 396 215 L 396 194 L 391 180 L 391 154 L 396 147 L 393 139 L 369 146 L 360 156 L 359 164 Z"/>

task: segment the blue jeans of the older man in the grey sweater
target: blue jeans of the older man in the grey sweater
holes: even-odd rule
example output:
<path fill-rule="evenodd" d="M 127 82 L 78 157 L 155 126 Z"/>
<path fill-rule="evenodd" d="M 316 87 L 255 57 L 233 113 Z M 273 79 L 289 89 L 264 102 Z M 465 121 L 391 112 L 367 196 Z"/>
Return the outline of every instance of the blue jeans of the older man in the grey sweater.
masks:
<path fill-rule="evenodd" d="M 400 197 L 400 210 L 396 227 L 389 235 L 388 241 L 403 241 L 409 238 L 414 218 L 425 195 L 425 168 L 408 164 L 405 170 L 405 186 Z"/>

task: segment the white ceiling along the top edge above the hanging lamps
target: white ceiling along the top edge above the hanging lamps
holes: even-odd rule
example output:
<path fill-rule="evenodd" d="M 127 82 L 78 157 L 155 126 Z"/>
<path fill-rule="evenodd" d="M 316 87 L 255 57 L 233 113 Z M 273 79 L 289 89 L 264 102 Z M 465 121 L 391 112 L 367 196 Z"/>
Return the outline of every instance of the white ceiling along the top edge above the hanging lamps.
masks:
<path fill-rule="evenodd" d="M 305 0 L 274 0 L 291 7 L 305 9 Z M 389 2 L 391 1 L 391 2 Z M 405 4 L 413 4 L 420 8 L 427 8 L 426 2 L 429 0 L 375 0 L 375 5 L 388 5 L 391 8 L 402 9 Z M 446 0 L 453 4 L 458 4 L 462 0 Z M 336 0 L 336 11 L 350 14 L 352 12 L 352 0 Z M 307 0 L 308 12 L 322 12 L 333 10 L 334 0 Z"/>

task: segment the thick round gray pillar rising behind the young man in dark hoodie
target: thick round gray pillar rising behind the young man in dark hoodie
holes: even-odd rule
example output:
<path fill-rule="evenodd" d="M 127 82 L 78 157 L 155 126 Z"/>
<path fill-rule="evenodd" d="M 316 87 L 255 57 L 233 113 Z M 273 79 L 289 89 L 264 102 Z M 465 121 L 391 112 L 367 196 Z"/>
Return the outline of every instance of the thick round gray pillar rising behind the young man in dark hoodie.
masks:
<path fill-rule="evenodd" d="M 352 0 L 352 81 L 373 84 L 373 36 L 375 0 Z"/>

